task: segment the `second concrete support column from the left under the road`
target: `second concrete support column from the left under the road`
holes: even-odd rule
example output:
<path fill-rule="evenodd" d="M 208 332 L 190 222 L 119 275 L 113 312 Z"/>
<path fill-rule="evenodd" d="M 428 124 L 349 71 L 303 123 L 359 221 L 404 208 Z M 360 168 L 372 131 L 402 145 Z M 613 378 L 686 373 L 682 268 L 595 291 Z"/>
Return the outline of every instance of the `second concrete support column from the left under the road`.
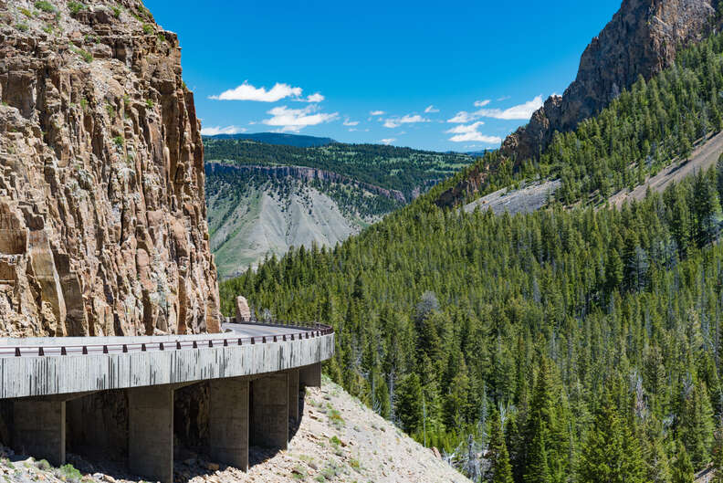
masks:
<path fill-rule="evenodd" d="M 173 483 L 173 386 L 128 390 L 128 467 L 141 477 Z"/>

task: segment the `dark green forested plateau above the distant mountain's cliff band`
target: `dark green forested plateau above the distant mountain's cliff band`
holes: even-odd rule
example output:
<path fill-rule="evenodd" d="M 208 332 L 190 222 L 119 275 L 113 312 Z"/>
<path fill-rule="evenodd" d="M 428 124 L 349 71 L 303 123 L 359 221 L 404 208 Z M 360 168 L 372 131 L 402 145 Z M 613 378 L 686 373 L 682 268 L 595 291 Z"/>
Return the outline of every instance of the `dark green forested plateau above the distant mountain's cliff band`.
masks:
<path fill-rule="evenodd" d="M 263 166 L 297 165 L 339 173 L 401 191 L 407 200 L 473 162 L 466 154 L 426 152 L 379 144 L 299 148 L 236 139 L 204 139 L 206 161 Z"/>

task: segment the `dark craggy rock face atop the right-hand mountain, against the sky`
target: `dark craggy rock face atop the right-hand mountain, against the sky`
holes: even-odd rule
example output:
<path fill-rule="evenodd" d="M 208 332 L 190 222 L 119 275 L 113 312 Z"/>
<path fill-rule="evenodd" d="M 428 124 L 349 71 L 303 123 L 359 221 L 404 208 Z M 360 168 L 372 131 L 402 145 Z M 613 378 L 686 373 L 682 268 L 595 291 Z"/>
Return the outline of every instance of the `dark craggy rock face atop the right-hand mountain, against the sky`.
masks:
<path fill-rule="evenodd" d="M 525 127 L 502 143 L 517 160 L 538 156 L 555 131 L 571 131 L 607 106 L 638 76 L 649 79 L 668 67 L 676 50 L 705 37 L 718 0 L 623 0 L 613 20 L 592 39 L 577 78 L 548 99 Z"/>

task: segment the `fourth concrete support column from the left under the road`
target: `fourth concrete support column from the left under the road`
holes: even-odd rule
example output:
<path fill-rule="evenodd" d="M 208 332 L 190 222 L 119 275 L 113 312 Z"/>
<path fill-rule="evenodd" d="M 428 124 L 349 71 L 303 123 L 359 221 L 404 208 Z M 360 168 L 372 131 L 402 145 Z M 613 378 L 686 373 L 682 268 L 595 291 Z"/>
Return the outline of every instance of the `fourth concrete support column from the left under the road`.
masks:
<path fill-rule="evenodd" d="M 286 449 L 288 444 L 288 373 L 254 380 L 251 417 L 253 442 Z"/>

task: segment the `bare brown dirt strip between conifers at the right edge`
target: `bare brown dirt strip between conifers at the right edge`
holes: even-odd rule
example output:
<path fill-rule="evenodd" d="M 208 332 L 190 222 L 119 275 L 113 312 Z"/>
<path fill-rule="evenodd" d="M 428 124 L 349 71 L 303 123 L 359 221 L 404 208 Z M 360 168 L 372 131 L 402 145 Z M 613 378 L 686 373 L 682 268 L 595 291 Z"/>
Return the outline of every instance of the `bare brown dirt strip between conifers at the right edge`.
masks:
<path fill-rule="evenodd" d="M 697 144 L 690 155 L 690 161 L 676 162 L 667 166 L 660 173 L 648 178 L 644 184 L 640 184 L 633 191 L 623 190 L 610 197 L 610 204 L 615 206 L 623 205 L 625 200 L 641 200 L 645 196 L 648 186 L 652 190 L 661 192 L 673 183 L 678 183 L 689 174 L 698 170 L 706 170 L 718 161 L 718 156 L 723 152 L 723 131 L 718 132 L 705 142 Z"/>

